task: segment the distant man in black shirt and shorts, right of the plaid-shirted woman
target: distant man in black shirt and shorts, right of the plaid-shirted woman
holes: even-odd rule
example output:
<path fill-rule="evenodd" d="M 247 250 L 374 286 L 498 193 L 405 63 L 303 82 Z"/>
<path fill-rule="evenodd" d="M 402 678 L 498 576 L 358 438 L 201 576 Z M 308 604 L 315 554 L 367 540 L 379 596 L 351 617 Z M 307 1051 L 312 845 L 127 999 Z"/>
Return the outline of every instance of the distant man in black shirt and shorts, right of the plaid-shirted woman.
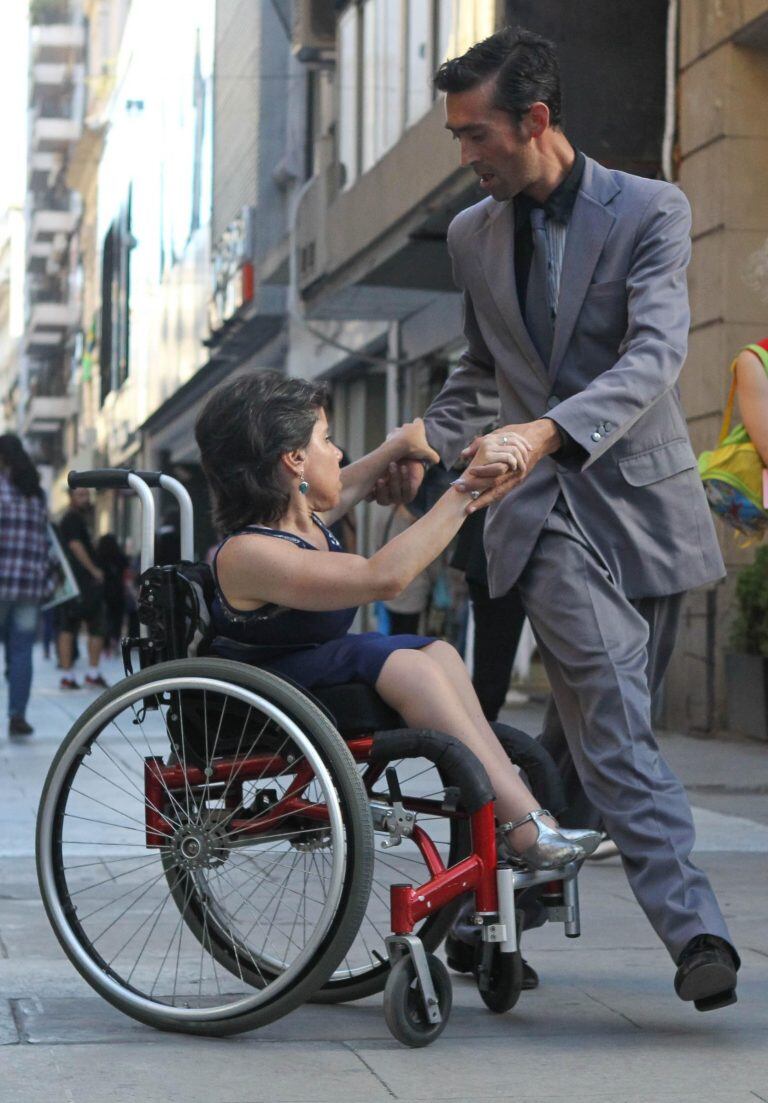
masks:
<path fill-rule="evenodd" d="M 79 597 L 65 602 L 58 611 L 58 662 L 62 689 L 79 689 L 72 674 L 75 639 L 85 623 L 88 632 L 88 671 L 85 684 L 104 688 L 107 683 L 99 671 L 104 650 L 105 606 L 104 571 L 96 564 L 86 517 L 90 512 L 90 492 L 84 486 L 70 491 L 70 508 L 62 517 L 58 532 L 62 547 L 79 587 Z"/>

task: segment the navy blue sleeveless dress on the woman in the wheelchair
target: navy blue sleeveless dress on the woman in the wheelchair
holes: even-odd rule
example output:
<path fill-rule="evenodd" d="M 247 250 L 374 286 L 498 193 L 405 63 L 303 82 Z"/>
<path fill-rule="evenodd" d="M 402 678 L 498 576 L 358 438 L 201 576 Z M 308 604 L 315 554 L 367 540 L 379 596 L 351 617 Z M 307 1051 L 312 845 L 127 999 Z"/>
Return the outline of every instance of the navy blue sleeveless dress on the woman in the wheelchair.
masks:
<path fill-rule="evenodd" d="M 333 533 L 318 517 L 312 516 L 312 521 L 326 537 L 329 552 L 342 552 Z M 300 536 L 279 528 L 248 525 L 232 536 L 244 533 L 274 536 L 307 552 L 317 552 Z M 427 635 L 350 632 L 356 607 L 329 612 L 307 612 L 275 604 L 262 606 L 253 611 L 234 609 L 221 591 L 216 571 L 216 559 L 224 544 L 226 540 L 218 545 L 213 557 L 216 596 L 211 609 L 217 633 L 212 651 L 223 658 L 255 663 L 275 674 L 287 675 L 307 689 L 348 682 L 364 682 L 373 686 L 394 651 L 426 647 L 435 642 Z"/>

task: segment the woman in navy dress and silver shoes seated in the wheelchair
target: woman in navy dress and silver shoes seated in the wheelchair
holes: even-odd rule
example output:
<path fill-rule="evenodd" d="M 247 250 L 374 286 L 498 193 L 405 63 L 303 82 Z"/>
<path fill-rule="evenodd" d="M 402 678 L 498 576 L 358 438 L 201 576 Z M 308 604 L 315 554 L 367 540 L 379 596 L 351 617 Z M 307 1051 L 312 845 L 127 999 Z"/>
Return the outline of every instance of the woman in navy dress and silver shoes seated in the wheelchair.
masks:
<path fill-rule="evenodd" d="M 351 633 L 358 606 L 399 593 L 461 527 L 467 496 L 450 488 L 419 521 L 370 559 L 344 553 L 329 526 L 372 490 L 390 464 L 437 462 L 415 420 L 340 468 L 321 385 L 259 373 L 224 385 L 195 436 L 214 521 L 215 653 L 254 662 L 313 687 L 363 682 L 412 728 L 461 740 L 497 794 L 500 842 L 538 869 L 583 858 L 599 842 L 558 828 L 538 808 L 487 722 L 467 668 L 448 643 L 423 635 Z M 484 447 L 473 465 L 523 471 L 526 446 Z"/>

